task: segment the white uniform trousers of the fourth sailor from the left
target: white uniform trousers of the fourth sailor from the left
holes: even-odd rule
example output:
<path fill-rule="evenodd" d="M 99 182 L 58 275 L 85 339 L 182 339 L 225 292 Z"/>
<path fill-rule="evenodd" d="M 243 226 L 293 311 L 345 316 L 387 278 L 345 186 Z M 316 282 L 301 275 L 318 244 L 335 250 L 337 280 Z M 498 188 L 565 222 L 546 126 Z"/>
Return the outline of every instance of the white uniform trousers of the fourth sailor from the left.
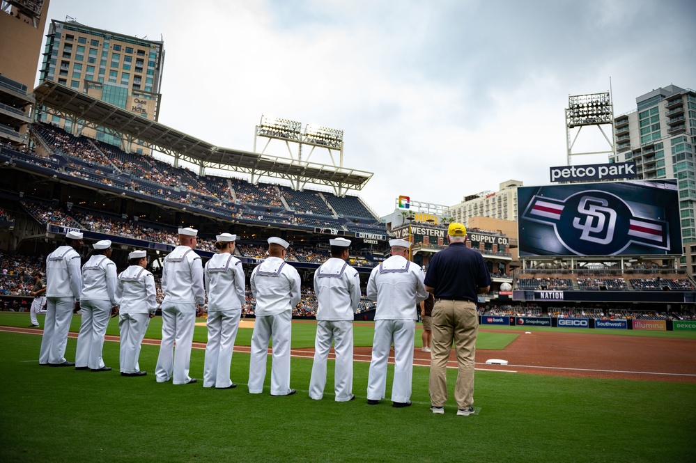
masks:
<path fill-rule="evenodd" d="M 196 305 L 194 303 L 162 303 L 162 344 L 157 356 L 155 375 L 158 383 L 169 381 L 186 384 L 191 380 L 191 345 L 196 327 Z M 176 349 L 174 343 L 176 341 Z M 173 360 L 173 365 L 172 365 Z"/>

